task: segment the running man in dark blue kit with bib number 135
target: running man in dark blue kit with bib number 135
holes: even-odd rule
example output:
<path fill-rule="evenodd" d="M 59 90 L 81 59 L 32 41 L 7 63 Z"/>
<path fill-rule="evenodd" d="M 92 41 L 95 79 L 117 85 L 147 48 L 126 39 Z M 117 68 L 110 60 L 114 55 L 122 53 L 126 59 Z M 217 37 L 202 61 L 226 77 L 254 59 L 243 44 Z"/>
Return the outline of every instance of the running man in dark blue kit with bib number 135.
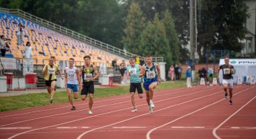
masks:
<path fill-rule="evenodd" d="M 146 91 L 146 100 L 149 104 L 149 113 L 152 113 L 152 108 L 154 108 L 154 88 L 161 83 L 160 68 L 157 63 L 152 62 L 152 56 L 146 56 L 146 64 L 140 68 L 140 77 L 143 77 L 143 87 Z"/>

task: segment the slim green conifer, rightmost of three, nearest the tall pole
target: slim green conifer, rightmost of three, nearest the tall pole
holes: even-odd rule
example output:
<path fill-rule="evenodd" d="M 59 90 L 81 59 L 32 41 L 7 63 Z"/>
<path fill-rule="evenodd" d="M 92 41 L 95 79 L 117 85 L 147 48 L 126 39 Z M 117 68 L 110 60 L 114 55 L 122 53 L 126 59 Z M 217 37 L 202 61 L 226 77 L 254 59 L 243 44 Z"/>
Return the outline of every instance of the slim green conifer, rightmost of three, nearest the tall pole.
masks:
<path fill-rule="evenodd" d="M 165 11 L 162 22 L 166 29 L 167 39 L 169 40 L 170 52 L 172 53 L 172 62 L 178 63 L 179 54 L 180 54 L 178 36 L 175 30 L 172 14 L 169 13 L 168 10 Z M 174 63 L 171 63 L 171 64 L 174 64 Z"/>

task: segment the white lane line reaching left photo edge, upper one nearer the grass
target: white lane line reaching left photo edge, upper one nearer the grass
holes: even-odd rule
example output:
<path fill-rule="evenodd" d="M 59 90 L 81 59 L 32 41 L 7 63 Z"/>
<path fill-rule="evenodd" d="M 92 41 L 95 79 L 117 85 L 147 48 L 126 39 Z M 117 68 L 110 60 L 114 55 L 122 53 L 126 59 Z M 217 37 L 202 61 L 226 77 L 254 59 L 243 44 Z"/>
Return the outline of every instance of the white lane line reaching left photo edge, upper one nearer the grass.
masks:
<path fill-rule="evenodd" d="M 184 89 L 184 88 L 177 88 L 177 89 L 174 89 L 174 91 L 175 90 L 181 90 L 181 89 Z M 157 91 L 157 93 L 162 92 L 162 91 L 166 91 L 166 90 Z M 174 92 L 174 93 L 172 92 L 172 94 L 176 94 L 176 93 L 177 92 Z M 164 95 L 168 95 L 168 94 L 163 94 L 163 95 L 159 95 L 159 96 L 164 96 Z M 102 103 L 102 102 L 110 101 L 110 100 L 121 100 L 121 99 L 126 99 L 126 98 L 130 98 L 130 97 L 121 97 L 121 98 L 114 98 L 114 99 L 109 99 L 109 100 L 96 101 L 95 103 Z M 82 105 L 84 105 L 84 103 L 78 104 L 77 106 L 82 106 Z M 58 108 L 54 108 L 54 109 L 63 109 L 63 108 L 68 108 L 68 107 L 70 107 L 70 106 L 63 106 L 63 107 L 58 107 Z M 24 115 L 24 114 L 32 114 L 32 113 L 41 112 L 41 111 L 51 111 L 51 110 L 54 110 L 54 109 L 43 109 L 43 110 L 38 110 L 38 111 L 30 111 L 30 112 L 25 112 L 25 113 L 22 113 L 22 114 L 11 114 L 11 115 L 6 115 L 6 116 L 1 116 L 0 118 L 2 118 L 2 117 L 13 117 L 13 116 L 19 116 L 19 115 Z"/>

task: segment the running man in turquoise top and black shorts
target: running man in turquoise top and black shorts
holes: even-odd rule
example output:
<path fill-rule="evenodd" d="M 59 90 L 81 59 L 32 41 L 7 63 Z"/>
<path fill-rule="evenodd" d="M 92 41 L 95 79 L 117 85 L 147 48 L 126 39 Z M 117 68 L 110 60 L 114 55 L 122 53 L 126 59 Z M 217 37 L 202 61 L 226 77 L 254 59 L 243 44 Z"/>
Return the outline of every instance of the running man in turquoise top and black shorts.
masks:
<path fill-rule="evenodd" d="M 131 94 L 131 103 L 134 106 L 132 112 L 137 112 L 137 107 L 134 100 L 134 94 L 137 89 L 140 99 L 143 98 L 143 88 L 141 87 L 141 78 L 140 75 L 140 65 L 134 64 L 135 59 L 129 60 L 130 65 L 127 68 L 127 80 L 130 80 L 130 94 Z"/>

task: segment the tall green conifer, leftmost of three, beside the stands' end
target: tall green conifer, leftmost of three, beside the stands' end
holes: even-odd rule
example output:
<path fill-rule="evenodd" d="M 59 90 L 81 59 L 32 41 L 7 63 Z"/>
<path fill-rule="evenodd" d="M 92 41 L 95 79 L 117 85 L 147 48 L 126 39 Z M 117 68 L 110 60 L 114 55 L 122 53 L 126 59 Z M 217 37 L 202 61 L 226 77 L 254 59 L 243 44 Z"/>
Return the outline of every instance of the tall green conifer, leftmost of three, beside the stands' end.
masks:
<path fill-rule="evenodd" d="M 140 36 L 145 28 L 145 18 L 138 4 L 131 4 L 128 15 L 125 18 L 125 24 L 125 35 L 122 37 L 125 49 L 134 54 L 142 54 Z"/>

